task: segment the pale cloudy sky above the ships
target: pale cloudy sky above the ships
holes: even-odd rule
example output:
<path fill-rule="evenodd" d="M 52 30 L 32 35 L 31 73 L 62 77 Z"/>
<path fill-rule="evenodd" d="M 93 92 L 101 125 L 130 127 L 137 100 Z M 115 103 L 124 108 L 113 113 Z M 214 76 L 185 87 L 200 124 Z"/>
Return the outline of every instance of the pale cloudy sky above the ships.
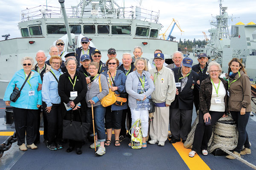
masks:
<path fill-rule="evenodd" d="M 75 6 L 80 0 L 65 0 L 65 6 Z M 136 6 L 140 0 L 125 0 L 125 6 Z M 117 3 L 122 4 L 122 0 Z M 58 0 L 47 0 L 48 6 L 60 7 Z M 233 22 L 247 24 L 249 22 L 256 23 L 256 0 L 224 0 L 223 7 L 227 8 L 229 16 L 233 16 Z M 0 0 L 0 35 L 11 34 L 10 38 L 20 37 L 17 23 L 20 22 L 20 11 L 26 8 L 32 8 L 39 5 L 46 5 L 46 0 Z M 211 28 L 209 21 L 212 16 L 219 14 L 218 0 L 144 0 L 141 6 L 152 11 L 160 10 L 160 23 L 164 26 L 161 33 L 166 31 L 172 23 L 172 18 L 178 20 L 180 28 L 184 31 L 180 34 L 180 30 L 175 26 L 172 36 L 176 40 L 203 40 L 202 31 L 206 32 L 208 38 L 208 29 Z M 172 26 L 171 26 L 172 27 Z M 171 28 L 167 31 L 169 34 Z M 167 34 L 167 35 L 168 35 Z M 0 40 L 4 40 L 0 37 Z"/>

